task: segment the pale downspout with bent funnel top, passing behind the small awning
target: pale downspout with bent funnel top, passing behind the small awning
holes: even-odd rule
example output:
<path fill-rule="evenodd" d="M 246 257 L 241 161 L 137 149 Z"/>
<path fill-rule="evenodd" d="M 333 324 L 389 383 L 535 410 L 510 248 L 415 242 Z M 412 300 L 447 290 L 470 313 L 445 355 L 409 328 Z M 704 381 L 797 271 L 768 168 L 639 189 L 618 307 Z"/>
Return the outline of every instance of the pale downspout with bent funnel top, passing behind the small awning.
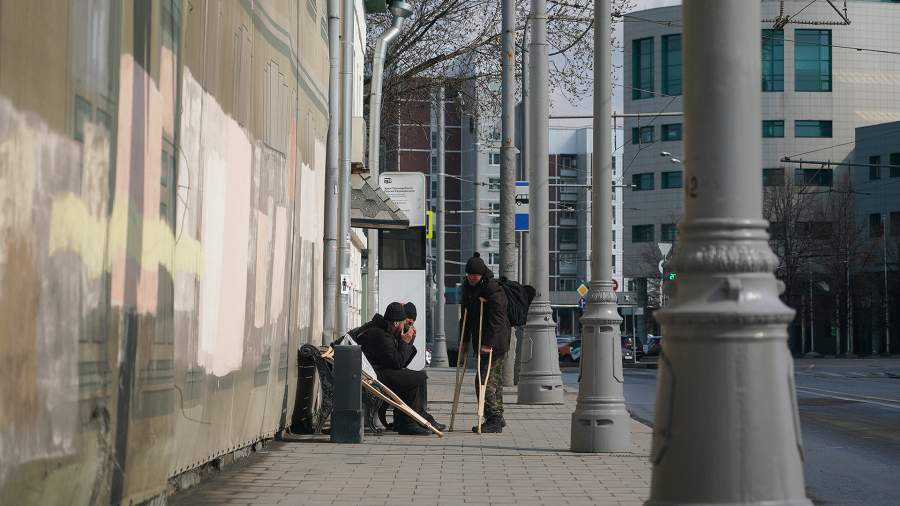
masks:
<path fill-rule="evenodd" d="M 375 42 L 375 54 L 372 57 L 372 80 L 369 93 L 369 176 L 372 184 L 378 185 L 378 174 L 381 154 L 381 90 L 384 84 L 384 60 L 387 56 L 388 46 L 400 34 L 403 21 L 412 14 L 412 6 L 403 0 L 391 3 L 391 26 L 384 31 Z M 378 230 L 368 231 L 368 272 L 369 284 L 366 287 L 366 308 L 368 315 L 363 315 L 366 320 L 379 311 L 378 307 Z"/>

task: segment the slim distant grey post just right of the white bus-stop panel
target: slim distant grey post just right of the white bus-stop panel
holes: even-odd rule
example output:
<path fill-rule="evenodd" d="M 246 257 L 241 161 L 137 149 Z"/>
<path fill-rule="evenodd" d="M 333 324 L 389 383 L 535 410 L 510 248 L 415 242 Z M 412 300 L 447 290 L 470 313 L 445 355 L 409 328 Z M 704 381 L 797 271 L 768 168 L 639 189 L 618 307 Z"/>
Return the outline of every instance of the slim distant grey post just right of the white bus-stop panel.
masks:
<path fill-rule="evenodd" d="M 446 185 L 446 134 L 447 125 L 444 115 L 444 87 L 438 90 L 437 97 L 437 120 L 438 120 L 438 170 L 437 174 L 432 173 L 431 177 L 437 178 L 438 198 L 435 211 L 437 215 L 437 303 L 434 311 L 434 349 L 431 354 L 431 367 L 447 367 L 450 365 L 447 359 L 447 335 L 444 333 L 444 308 L 446 298 L 444 297 L 444 271 L 446 264 L 446 237 L 444 235 L 445 220 L 445 189 Z"/>

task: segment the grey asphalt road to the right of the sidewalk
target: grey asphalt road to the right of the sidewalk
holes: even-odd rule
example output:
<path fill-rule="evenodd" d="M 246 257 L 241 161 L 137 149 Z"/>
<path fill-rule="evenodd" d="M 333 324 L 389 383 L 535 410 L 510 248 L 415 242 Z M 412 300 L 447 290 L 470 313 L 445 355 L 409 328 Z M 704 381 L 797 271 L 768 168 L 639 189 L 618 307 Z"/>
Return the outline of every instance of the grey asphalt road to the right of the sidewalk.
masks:
<path fill-rule="evenodd" d="M 900 505 L 900 359 L 797 360 L 795 371 L 809 498 Z M 625 370 L 632 417 L 652 425 L 655 398 L 655 370 Z"/>

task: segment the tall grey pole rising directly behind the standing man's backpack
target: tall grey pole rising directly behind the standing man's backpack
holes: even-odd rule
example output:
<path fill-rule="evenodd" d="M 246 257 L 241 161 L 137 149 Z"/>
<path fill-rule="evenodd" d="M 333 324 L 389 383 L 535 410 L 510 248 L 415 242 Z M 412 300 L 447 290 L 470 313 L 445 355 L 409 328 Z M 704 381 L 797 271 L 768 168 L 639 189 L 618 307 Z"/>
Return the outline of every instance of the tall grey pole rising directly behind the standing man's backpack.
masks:
<path fill-rule="evenodd" d="M 503 146 L 500 148 L 500 275 L 518 280 L 516 265 L 516 2 L 503 0 Z M 509 352 L 503 364 L 503 384 L 515 383 L 516 333 L 510 334 Z"/>

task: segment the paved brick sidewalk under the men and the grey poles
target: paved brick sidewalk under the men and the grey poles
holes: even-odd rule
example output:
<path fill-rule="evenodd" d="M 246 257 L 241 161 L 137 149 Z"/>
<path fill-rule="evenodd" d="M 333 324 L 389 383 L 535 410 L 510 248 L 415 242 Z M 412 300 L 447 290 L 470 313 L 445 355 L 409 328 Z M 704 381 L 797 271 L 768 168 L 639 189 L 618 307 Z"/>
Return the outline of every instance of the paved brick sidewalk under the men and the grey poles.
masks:
<path fill-rule="evenodd" d="M 477 435 L 473 371 L 466 375 L 455 431 L 437 436 L 366 434 L 359 445 L 288 435 L 171 498 L 205 504 L 642 504 L 650 485 L 651 429 L 631 421 L 631 451 L 569 451 L 576 394 L 564 405 L 515 404 L 507 427 Z M 428 369 L 430 411 L 449 425 L 454 369 Z"/>

